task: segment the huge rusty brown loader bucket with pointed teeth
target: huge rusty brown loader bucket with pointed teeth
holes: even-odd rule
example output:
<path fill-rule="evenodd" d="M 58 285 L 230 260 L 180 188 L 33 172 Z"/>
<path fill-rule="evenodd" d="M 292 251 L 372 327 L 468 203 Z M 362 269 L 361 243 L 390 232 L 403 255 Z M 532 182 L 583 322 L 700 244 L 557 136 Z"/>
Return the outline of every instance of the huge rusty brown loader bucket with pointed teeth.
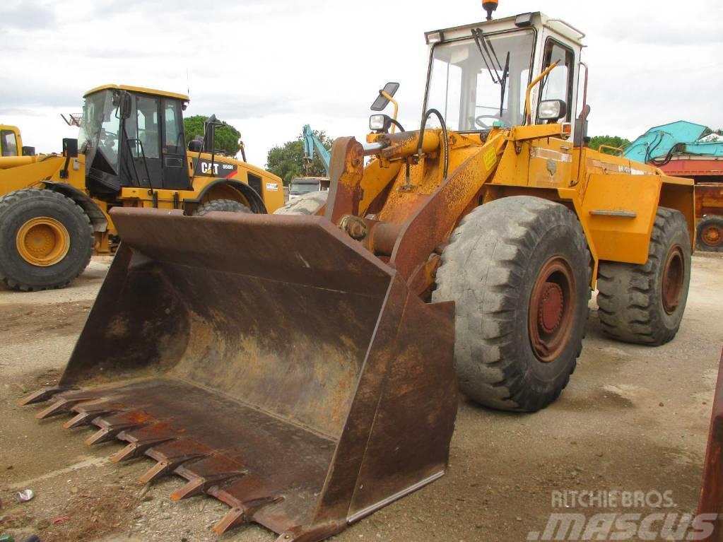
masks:
<path fill-rule="evenodd" d="M 54 388 L 25 404 L 175 473 L 174 499 L 319 541 L 442 476 L 453 306 L 316 216 L 114 210 L 123 243 Z M 69 418 L 72 416 L 72 418 Z"/>

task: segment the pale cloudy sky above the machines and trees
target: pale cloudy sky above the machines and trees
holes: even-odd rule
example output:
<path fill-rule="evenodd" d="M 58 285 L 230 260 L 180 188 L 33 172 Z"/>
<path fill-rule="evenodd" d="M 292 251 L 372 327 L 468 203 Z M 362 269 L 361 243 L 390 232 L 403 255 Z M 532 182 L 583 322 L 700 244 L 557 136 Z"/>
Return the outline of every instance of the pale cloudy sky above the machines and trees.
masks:
<path fill-rule="evenodd" d="M 186 93 L 187 114 L 241 131 L 249 161 L 303 124 L 333 137 L 367 132 L 369 105 L 401 83 L 400 120 L 422 108 L 424 31 L 484 19 L 481 0 L 1 0 L 0 124 L 25 145 L 77 137 L 60 113 L 114 82 Z M 654 5 L 654 10 L 650 6 Z M 500 0 L 496 17 L 540 10 L 583 30 L 590 134 L 630 139 L 686 119 L 719 128 L 720 0 Z"/>

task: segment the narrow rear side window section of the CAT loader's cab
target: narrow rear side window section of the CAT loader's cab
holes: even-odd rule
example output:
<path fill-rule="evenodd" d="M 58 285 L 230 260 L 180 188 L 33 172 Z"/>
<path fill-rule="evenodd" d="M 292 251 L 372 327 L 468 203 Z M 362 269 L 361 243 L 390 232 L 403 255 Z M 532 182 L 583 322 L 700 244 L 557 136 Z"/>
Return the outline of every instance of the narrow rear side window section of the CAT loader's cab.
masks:
<path fill-rule="evenodd" d="M 183 116 L 179 100 L 161 98 L 161 122 L 163 188 L 188 190 L 191 185 L 186 165 Z"/>

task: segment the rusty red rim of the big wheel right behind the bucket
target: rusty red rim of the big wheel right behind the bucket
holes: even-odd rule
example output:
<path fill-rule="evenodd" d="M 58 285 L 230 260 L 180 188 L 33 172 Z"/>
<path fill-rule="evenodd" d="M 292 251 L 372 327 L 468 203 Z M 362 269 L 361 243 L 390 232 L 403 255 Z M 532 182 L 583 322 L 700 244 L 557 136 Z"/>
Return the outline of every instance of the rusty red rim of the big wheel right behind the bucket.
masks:
<path fill-rule="evenodd" d="M 576 298 L 570 264 L 559 256 L 548 259 L 535 280 L 528 311 L 530 344 L 539 361 L 553 361 L 568 344 Z"/>

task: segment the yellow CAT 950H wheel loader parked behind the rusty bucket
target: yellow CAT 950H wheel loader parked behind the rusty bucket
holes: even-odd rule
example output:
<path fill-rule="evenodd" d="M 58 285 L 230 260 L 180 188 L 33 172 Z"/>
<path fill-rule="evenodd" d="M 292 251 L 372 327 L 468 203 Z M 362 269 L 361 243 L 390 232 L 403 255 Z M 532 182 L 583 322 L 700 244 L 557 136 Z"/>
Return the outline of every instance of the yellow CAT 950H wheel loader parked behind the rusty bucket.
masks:
<path fill-rule="evenodd" d="M 188 101 L 139 87 L 94 88 L 85 94 L 80 141 L 64 139 L 62 155 L 17 152 L 20 132 L 0 126 L 0 278 L 23 291 L 67 285 L 93 250 L 114 250 L 113 207 L 205 215 L 283 205 L 280 178 L 216 154 L 215 117 L 204 140 L 186 146 Z"/>

